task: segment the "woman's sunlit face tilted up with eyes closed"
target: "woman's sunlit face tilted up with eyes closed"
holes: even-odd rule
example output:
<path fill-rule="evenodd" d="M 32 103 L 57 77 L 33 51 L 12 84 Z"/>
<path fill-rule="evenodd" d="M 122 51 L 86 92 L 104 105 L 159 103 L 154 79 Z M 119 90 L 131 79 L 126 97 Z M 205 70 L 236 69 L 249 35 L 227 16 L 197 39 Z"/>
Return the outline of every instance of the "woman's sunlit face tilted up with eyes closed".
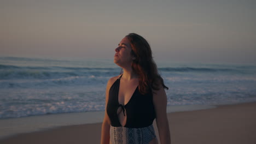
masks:
<path fill-rule="evenodd" d="M 131 50 L 132 48 L 129 40 L 126 37 L 123 38 L 115 49 L 114 63 L 119 66 L 131 65 Z"/>

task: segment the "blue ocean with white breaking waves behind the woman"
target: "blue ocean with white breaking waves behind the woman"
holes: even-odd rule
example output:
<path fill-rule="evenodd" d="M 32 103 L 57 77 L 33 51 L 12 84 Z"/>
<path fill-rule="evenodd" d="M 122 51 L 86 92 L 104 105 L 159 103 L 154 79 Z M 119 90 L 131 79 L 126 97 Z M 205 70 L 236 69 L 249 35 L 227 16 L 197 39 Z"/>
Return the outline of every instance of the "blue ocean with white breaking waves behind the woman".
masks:
<path fill-rule="evenodd" d="M 156 61 L 167 104 L 256 101 L 256 65 Z M 113 59 L 0 57 L 0 119 L 104 111 Z"/>

